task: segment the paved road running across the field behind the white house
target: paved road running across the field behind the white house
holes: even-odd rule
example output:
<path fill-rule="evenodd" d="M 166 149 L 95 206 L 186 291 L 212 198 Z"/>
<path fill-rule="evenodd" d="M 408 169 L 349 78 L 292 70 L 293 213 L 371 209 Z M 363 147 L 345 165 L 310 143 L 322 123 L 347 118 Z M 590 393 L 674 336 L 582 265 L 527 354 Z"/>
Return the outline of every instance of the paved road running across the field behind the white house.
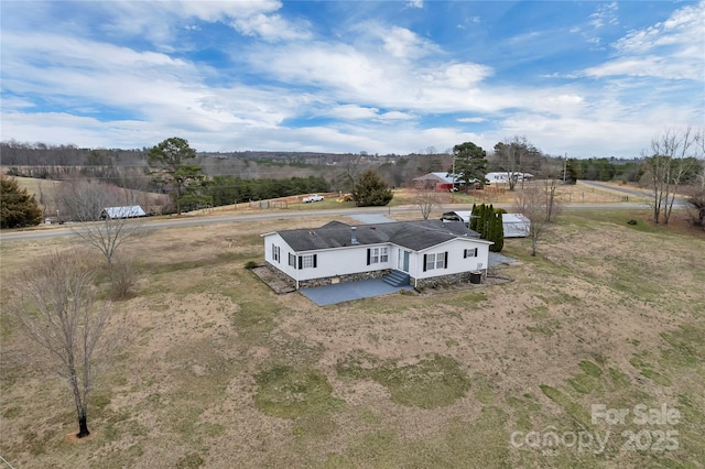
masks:
<path fill-rule="evenodd" d="M 498 204 L 497 208 L 511 209 L 511 204 Z M 454 210 L 470 210 L 471 205 L 462 206 L 454 205 L 446 208 L 453 208 Z M 622 204 L 574 204 L 563 207 L 567 210 L 594 210 L 594 209 L 623 209 L 623 210 L 640 210 L 648 208 L 647 204 L 639 203 L 622 203 Z M 185 218 L 147 218 L 137 222 L 135 226 L 139 229 L 159 230 L 162 228 L 177 228 L 177 227 L 197 227 L 206 225 L 217 223 L 234 223 L 243 221 L 260 221 L 260 220 L 276 220 L 286 218 L 314 218 L 314 217 L 335 217 L 335 216 L 352 216 L 360 214 L 379 214 L 391 215 L 395 212 L 419 211 L 416 206 L 400 206 L 400 207 L 356 207 L 356 208 L 341 208 L 341 209 L 319 209 L 319 210 L 273 210 L 263 212 L 230 212 L 230 214 L 208 214 L 208 215 L 195 215 L 186 216 Z M 0 242 L 10 241 L 31 241 L 52 238 L 65 238 L 75 236 L 74 229 L 62 226 L 43 226 L 40 229 L 29 229 L 26 231 L 10 231 L 0 232 Z"/>

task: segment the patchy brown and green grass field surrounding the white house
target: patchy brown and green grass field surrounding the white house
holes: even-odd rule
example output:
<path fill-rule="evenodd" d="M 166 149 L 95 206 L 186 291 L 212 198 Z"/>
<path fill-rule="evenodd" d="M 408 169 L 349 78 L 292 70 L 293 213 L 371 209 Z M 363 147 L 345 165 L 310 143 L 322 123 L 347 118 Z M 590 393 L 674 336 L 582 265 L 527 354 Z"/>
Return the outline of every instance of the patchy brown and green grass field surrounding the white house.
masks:
<path fill-rule="evenodd" d="M 705 237 L 646 219 L 566 212 L 538 258 L 507 241 L 521 262 L 498 273 L 512 282 L 326 307 L 243 265 L 262 260 L 260 233 L 329 219 L 151 232 L 129 247 L 140 282 L 116 313 L 129 345 L 94 391 L 91 440 L 65 443 L 70 396 L 17 359 L 33 351 L 2 317 L 0 455 L 17 468 L 704 467 Z M 2 298 L 68 242 L 0 244 Z"/>

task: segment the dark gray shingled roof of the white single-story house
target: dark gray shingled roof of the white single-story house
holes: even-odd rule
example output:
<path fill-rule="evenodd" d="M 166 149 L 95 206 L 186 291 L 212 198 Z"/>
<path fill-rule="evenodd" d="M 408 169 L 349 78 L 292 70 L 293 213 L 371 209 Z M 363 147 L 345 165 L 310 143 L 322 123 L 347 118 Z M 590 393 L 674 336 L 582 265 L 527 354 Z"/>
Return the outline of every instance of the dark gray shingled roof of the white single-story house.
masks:
<path fill-rule="evenodd" d="M 355 228 L 355 230 L 352 230 Z M 296 252 L 354 246 L 380 244 L 392 242 L 414 251 L 421 251 L 455 238 L 479 238 L 459 221 L 423 220 L 399 221 L 381 225 L 350 226 L 340 221 L 330 221 L 321 228 L 278 231 L 284 241 Z"/>

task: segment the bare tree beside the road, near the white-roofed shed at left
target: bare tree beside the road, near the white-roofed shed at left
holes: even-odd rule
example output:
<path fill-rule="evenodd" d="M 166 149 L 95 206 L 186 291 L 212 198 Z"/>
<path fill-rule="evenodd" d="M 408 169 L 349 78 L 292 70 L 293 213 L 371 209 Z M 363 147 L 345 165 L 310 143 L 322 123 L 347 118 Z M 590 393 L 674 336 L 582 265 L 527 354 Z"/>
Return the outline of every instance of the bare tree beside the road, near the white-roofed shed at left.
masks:
<path fill-rule="evenodd" d="M 62 214 L 80 222 L 72 226 L 74 233 L 100 251 L 109 268 L 126 241 L 144 233 L 141 221 L 131 219 L 132 212 L 127 211 L 134 203 L 133 194 L 108 184 L 80 181 L 63 186 L 58 195 Z M 108 207 L 123 207 L 123 212 L 111 217 L 105 211 Z"/>

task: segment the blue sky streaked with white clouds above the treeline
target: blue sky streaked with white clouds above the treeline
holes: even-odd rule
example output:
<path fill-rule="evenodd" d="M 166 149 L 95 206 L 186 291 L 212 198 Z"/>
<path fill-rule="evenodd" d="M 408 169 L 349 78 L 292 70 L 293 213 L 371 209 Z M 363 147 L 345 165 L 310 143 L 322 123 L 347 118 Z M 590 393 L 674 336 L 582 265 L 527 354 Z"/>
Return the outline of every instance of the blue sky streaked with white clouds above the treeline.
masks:
<path fill-rule="evenodd" d="M 7 1 L 2 140 L 639 156 L 705 126 L 705 1 Z"/>

